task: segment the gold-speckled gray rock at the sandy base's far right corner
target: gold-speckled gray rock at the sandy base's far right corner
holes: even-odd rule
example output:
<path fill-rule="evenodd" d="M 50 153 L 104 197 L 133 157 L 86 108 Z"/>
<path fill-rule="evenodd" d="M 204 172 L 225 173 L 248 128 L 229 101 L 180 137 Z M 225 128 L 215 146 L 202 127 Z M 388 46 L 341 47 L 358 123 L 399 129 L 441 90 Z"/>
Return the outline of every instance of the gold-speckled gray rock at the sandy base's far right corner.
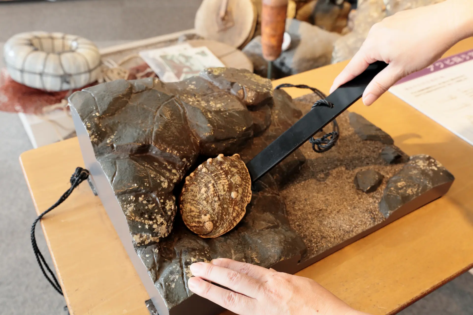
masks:
<path fill-rule="evenodd" d="M 388 179 L 379 211 L 388 218 L 404 204 L 454 179 L 442 164 L 429 155 L 411 156 L 403 169 Z"/>

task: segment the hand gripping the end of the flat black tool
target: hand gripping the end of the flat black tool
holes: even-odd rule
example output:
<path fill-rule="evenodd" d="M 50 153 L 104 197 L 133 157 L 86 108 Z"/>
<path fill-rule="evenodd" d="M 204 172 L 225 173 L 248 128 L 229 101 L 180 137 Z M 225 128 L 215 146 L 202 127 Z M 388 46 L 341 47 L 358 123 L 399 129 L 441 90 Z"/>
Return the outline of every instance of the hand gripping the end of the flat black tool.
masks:
<path fill-rule="evenodd" d="M 444 2 L 398 12 L 375 24 L 368 36 L 335 78 L 330 93 L 380 60 L 389 65 L 367 86 L 365 105 L 371 105 L 399 79 L 428 67 L 458 41 L 471 36 L 471 0 Z"/>

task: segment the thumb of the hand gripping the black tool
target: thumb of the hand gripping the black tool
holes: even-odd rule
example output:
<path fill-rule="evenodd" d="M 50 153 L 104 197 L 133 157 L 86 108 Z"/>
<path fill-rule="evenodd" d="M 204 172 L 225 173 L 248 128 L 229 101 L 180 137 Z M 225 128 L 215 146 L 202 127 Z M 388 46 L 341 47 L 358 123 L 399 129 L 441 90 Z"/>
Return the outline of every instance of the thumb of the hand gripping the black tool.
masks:
<path fill-rule="evenodd" d="M 389 64 L 376 77 L 371 80 L 363 93 L 363 103 L 366 106 L 373 104 L 382 94 L 384 94 L 391 86 L 400 80 L 403 71 L 396 68 L 393 64 Z"/>

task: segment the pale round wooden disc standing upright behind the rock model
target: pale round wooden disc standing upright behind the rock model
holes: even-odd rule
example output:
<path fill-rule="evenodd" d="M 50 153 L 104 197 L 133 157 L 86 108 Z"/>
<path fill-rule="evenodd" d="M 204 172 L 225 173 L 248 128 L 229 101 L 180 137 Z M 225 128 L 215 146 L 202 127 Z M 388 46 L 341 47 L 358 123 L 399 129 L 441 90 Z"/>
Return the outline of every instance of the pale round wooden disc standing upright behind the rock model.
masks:
<path fill-rule="evenodd" d="M 224 21 L 220 18 L 222 5 L 227 1 Z M 195 14 L 194 28 L 205 39 L 240 47 L 256 23 L 251 0 L 203 0 Z"/>

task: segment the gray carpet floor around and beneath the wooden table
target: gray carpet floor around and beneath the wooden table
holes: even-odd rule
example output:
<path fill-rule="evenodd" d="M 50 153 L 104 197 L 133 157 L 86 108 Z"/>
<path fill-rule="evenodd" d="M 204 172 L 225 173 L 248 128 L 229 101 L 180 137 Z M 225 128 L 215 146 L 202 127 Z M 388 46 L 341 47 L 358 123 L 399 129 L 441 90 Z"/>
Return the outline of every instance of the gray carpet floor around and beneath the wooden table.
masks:
<path fill-rule="evenodd" d="M 200 2 L 0 2 L 0 43 L 19 32 L 44 30 L 78 34 L 105 47 L 192 28 Z M 30 244 L 29 229 L 35 211 L 18 156 L 31 148 L 18 116 L 0 112 L 0 314 L 65 315 L 65 302 L 43 278 Z M 41 229 L 36 236 L 40 249 L 47 254 Z M 48 255 L 46 259 L 51 263 Z M 473 275 L 461 275 L 400 314 L 473 314 Z"/>

